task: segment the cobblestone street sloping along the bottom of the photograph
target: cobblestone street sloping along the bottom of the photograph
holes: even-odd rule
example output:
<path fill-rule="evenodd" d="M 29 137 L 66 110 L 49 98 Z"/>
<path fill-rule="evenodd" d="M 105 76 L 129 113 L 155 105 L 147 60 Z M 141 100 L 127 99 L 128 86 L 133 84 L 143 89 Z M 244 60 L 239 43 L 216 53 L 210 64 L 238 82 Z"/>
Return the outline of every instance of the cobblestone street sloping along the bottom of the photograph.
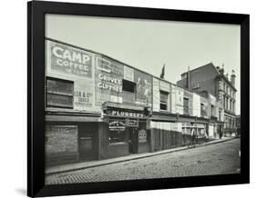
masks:
<path fill-rule="evenodd" d="M 240 139 L 46 176 L 46 184 L 240 173 Z"/>

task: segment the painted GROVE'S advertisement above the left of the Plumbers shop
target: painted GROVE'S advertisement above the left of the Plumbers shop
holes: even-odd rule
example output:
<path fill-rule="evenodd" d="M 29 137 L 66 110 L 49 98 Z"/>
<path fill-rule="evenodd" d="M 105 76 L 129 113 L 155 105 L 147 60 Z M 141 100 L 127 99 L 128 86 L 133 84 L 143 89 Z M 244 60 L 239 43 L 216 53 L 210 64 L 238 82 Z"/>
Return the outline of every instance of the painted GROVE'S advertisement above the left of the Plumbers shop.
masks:
<path fill-rule="evenodd" d="M 97 55 L 95 68 L 96 105 L 111 101 L 122 103 L 124 65 Z"/>

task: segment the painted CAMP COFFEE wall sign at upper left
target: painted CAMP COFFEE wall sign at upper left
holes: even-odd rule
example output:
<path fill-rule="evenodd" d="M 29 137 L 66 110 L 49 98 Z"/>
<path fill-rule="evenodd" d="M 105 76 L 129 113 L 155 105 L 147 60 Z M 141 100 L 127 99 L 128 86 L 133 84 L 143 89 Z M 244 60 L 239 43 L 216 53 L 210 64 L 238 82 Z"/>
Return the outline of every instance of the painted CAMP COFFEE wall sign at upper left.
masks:
<path fill-rule="evenodd" d="M 52 41 L 46 42 L 50 69 L 57 73 L 92 77 L 92 55 L 84 50 Z"/>

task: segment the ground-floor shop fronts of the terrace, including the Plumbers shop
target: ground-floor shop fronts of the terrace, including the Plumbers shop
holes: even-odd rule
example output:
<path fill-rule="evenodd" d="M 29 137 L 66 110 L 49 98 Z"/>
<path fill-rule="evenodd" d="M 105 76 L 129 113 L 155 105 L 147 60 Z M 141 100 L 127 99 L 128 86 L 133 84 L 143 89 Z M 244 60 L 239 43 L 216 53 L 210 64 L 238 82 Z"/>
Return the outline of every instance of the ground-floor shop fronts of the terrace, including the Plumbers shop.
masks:
<path fill-rule="evenodd" d="M 149 153 L 220 135 L 216 120 L 178 114 L 146 115 L 144 106 L 109 103 L 107 114 L 46 114 L 46 165 Z M 106 106 L 105 106 L 106 107 Z M 147 108 L 147 107 L 146 107 Z"/>

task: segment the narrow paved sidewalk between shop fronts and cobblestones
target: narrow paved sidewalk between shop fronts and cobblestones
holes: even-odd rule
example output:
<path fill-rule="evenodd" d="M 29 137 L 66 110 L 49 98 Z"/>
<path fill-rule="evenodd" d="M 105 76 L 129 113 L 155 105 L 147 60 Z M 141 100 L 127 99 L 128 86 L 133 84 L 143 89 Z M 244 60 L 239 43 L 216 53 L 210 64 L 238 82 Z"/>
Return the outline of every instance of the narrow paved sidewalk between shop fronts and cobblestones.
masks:
<path fill-rule="evenodd" d="M 222 139 L 211 140 L 210 142 L 207 142 L 207 143 L 197 144 L 197 147 L 209 145 L 209 144 L 219 144 L 219 143 L 226 142 L 226 141 L 229 141 L 232 139 L 234 139 L 234 137 L 223 137 Z M 159 154 L 163 154 L 163 153 L 172 153 L 172 152 L 182 151 L 182 150 L 186 150 L 186 149 L 189 149 L 188 145 L 180 146 L 177 148 L 171 148 L 171 149 L 154 152 L 154 153 L 137 153 L 137 154 L 129 154 L 127 156 L 111 158 L 111 159 L 106 159 L 106 160 L 57 165 L 57 166 L 52 166 L 52 167 L 46 168 L 46 174 L 65 173 L 68 171 L 86 169 L 86 168 L 101 166 L 101 165 L 110 164 L 110 163 L 121 163 L 121 162 L 136 160 L 139 158 L 145 158 L 145 157 L 150 157 L 150 156 L 154 156 L 154 155 L 159 155 Z"/>

